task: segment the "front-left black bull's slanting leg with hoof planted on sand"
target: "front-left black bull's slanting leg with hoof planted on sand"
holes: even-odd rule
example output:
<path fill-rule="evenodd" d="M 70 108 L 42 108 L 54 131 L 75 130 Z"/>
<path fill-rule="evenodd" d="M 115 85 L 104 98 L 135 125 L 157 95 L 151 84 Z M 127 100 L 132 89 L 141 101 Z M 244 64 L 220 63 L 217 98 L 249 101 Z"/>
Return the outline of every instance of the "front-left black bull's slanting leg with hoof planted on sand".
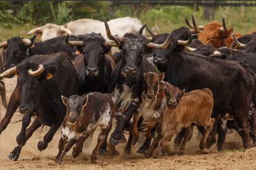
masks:
<path fill-rule="evenodd" d="M 30 137 L 32 136 L 33 132 L 36 131 L 36 129 L 38 129 L 41 126 L 41 123 L 39 121 L 38 118 L 36 118 L 33 123 L 31 124 L 30 127 L 28 127 L 27 131 L 26 131 L 26 142 L 28 139 L 30 139 Z M 10 155 L 8 156 L 8 158 L 10 160 L 14 160 L 17 161 L 19 156 L 20 156 L 20 152 L 22 150 L 23 145 L 18 145 L 17 147 L 14 148 L 14 150 L 12 150 L 12 152 L 10 153 Z"/>

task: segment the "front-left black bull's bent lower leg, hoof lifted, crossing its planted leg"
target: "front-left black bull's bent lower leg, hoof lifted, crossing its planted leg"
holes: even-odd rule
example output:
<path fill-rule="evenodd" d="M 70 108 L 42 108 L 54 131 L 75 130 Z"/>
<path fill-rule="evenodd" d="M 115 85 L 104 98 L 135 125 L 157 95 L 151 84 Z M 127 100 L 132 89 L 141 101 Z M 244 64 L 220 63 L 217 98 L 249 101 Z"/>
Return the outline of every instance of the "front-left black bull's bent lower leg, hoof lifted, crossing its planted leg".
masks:
<path fill-rule="evenodd" d="M 26 129 L 31 121 L 31 113 L 26 113 L 22 118 L 22 129 L 19 135 L 16 137 L 16 142 L 19 145 L 25 145 L 26 143 Z"/>

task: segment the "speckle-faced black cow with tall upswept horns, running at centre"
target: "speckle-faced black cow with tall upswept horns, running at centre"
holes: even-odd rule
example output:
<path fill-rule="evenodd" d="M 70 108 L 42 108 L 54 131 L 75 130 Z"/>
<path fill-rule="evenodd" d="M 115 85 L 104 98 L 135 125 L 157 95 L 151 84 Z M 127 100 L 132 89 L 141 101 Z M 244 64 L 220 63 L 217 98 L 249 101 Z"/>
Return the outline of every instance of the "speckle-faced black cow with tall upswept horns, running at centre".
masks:
<path fill-rule="evenodd" d="M 148 60 L 143 57 L 143 54 L 148 48 L 164 49 L 168 46 L 170 36 L 162 44 L 154 44 L 150 42 L 151 38 L 142 35 L 146 25 L 143 25 L 138 33 L 126 33 L 123 37 L 113 36 L 109 30 L 108 23 L 105 22 L 105 26 L 108 38 L 116 39 L 120 42 L 119 49 L 121 49 L 122 58 L 111 73 L 109 81 L 109 92 L 114 95 L 113 100 L 117 107 L 116 117 L 118 117 L 116 129 L 111 134 L 109 143 L 117 145 L 124 131 L 124 126 L 126 123 L 129 124 L 134 111 L 139 107 L 140 97 L 143 92 L 143 73 L 155 71 Z M 150 145 L 150 140 L 146 140 L 145 144 Z M 127 154 L 130 154 L 131 142 L 132 134 L 130 131 L 127 146 L 124 148 L 124 152 Z M 147 150 L 148 147 L 142 147 L 141 149 Z"/>

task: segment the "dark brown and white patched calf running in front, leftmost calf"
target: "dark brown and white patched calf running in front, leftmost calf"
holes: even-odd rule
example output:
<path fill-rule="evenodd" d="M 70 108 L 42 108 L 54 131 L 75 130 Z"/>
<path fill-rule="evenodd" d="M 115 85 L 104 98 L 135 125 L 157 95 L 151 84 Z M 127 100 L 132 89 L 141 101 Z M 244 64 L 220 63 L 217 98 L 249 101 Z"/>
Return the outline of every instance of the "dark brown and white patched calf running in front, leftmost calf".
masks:
<path fill-rule="evenodd" d="M 59 153 L 56 163 L 61 164 L 62 158 L 77 144 L 72 152 L 77 157 L 82 150 L 83 142 L 100 126 L 101 132 L 98 143 L 93 150 L 91 161 L 95 163 L 98 150 L 103 144 L 106 133 L 111 129 L 112 119 L 116 110 L 110 94 L 91 92 L 82 96 L 72 95 L 67 99 L 61 96 L 62 102 L 67 107 L 67 115 L 63 122 L 61 139 L 59 139 Z M 114 147 L 111 147 L 114 149 Z"/>

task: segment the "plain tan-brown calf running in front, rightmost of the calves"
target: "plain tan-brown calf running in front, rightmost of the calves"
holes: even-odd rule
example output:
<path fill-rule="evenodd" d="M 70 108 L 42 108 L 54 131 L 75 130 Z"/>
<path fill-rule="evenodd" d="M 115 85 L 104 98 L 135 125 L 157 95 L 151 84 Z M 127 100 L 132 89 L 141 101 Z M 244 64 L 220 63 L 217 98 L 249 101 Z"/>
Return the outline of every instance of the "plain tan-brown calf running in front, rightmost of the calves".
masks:
<path fill-rule="evenodd" d="M 192 123 L 207 127 L 199 145 L 202 151 L 215 123 L 215 119 L 211 118 L 213 109 L 212 92 L 210 89 L 202 89 L 184 93 L 184 90 L 181 91 L 178 87 L 162 81 L 160 82 L 160 88 L 164 89 L 164 95 L 166 95 L 166 108 L 163 116 L 158 120 L 156 126 L 158 134 L 146 157 L 157 156 L 160 150 L 164 154 L 165 149 L 168 148 L 168 141 L 181 130 L 181 127 L 187 127 L 180 147 L 180 152 L 184 153 L 186 142 L 192 134 L 190 128 Z"/>

